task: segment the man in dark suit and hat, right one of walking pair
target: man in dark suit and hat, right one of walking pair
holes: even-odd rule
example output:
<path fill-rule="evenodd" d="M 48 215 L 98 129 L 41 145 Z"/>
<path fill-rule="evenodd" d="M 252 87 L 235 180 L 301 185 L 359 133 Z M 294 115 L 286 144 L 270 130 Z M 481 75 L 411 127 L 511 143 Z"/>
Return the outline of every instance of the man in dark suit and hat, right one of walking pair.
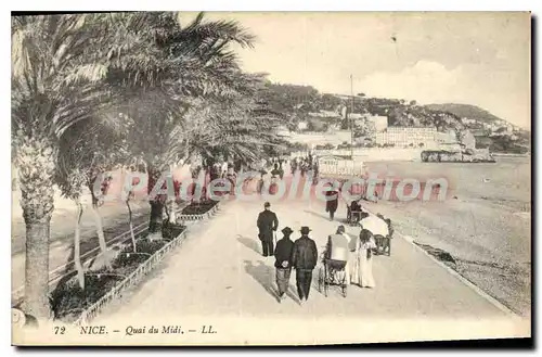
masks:
<path fill-rule="evenodd" d="M 302 305 L 309 298 L 312 270 L 318 263 L 317 243 L 309 238 L 309 227 L 301 227 L 301 238 L 294 243 L 292 266 L 296 268 L 297 293 Z"/>

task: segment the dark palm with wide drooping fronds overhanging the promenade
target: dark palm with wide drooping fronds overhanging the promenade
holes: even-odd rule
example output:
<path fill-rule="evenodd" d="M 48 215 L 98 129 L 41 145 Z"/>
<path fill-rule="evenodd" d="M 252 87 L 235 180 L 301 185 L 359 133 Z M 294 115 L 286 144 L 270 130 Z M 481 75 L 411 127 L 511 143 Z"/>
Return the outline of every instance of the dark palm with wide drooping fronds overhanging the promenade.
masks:
<path fill-rule="evenodd" d="M 124 58 L 121 74 L 129 74 L 130 88 L 122 88 L 128 98 L 119 109 L 132 122 L 128 141 L 146 164 L 151 193 L 171 164 L 186 158 L 183 148 L 192 129 L 183 116 L 193 100 L 223 100 L 245 91 L 251 79 L 240 71 L 229 46 L 250 47 L 253 36 L 235 22 L 205 22 L 203 13 L 184 27 L 176 13 L 138 13 L 124 20 L 128 34 L 153 43 L 154 61 L 145 66 L 139 54 Z M 153 235 L 160 235 L 164 203 L 162 194 L 150 200 Z"/>

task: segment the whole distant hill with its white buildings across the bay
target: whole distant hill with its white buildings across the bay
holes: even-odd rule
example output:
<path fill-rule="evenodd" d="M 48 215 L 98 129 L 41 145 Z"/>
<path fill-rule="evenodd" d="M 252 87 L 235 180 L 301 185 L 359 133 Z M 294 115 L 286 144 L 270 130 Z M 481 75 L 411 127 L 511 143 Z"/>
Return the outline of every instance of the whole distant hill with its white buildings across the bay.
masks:
<path fill-rule="evenodd" d="M 289 131 L 332 133 L 352 128 L 358 145 L 422 146 L 433 136 L 438 137 L 436 142 L 442 143 L 461 140 L 470 131 L 479 149 L 508 153 L 530 151 L 529 131 L 475 105 L 420 105 L 416 101 L 369 98 L 364 93 L 352 98 L 320 93 L 310 86 L 273 82 L 266 84 L 259 100 L 284 114 L 283 126 Z"/>

